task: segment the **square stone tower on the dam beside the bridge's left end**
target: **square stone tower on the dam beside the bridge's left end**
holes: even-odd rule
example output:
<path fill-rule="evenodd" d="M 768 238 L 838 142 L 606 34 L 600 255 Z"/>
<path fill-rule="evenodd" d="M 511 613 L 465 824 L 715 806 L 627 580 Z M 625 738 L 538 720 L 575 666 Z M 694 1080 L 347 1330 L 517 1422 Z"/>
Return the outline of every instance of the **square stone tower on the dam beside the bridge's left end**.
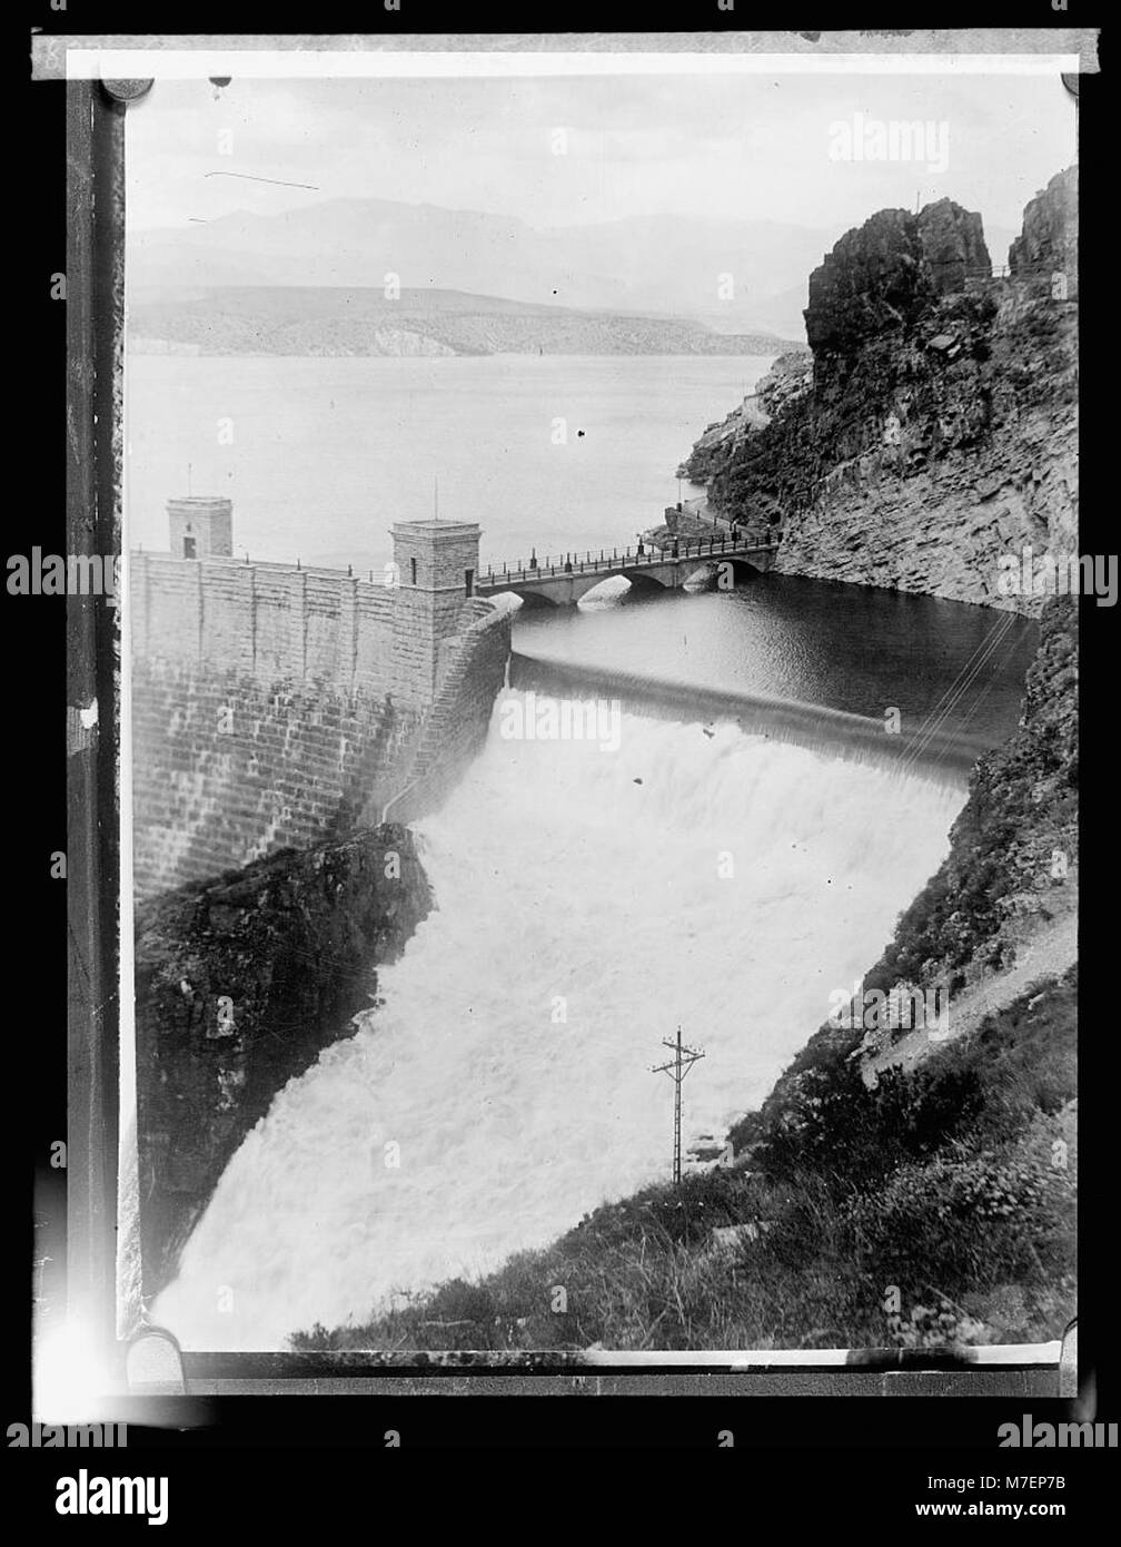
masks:
<path fill-rule="evenodd" d="M 402 702 L 427 707 L 436 696 L 464 602 L 475 596 L 479 535 L 475 521 L 393 526 L 399 580 L 393 619 L 394 693 Z"/>

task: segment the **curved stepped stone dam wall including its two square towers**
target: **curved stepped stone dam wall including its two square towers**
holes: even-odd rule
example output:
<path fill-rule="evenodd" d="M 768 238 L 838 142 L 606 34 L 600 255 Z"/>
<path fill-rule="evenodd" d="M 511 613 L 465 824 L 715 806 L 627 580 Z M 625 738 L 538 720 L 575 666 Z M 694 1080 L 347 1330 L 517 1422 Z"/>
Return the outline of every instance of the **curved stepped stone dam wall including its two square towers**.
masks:
<path fill-rule="evenodd" d="M 438 798 L 486 738 L 510 617 L 476 597 L 479 528 L 399 521 L 400 583 L 240 563 L 223 498 L 169 501 L 133 552 L 139 899 Z"/>

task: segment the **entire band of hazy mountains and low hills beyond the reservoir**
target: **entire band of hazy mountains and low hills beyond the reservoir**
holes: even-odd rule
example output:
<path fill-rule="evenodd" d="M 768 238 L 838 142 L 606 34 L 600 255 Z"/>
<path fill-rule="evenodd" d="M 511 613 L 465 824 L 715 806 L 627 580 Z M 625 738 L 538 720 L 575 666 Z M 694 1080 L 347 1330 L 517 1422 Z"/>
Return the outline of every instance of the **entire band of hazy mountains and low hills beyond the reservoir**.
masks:
<path fill-rule="evenodd" d="M 135 343 L 190 353 L 778 354 L 804 345 L 807 278 L 840 235 L 673 215 L 538 229 L 363 198 L 237 210 L 130 234 L 130 322 Z M 996 265 L 1011 235 L 990 234 Z"/>

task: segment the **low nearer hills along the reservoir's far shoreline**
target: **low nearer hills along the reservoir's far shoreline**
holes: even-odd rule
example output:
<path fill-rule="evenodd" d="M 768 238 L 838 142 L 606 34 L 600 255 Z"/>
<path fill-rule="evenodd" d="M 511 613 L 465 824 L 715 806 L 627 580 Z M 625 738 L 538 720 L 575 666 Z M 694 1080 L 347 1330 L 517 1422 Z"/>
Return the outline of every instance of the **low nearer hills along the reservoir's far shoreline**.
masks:
<path fill-rule="evenodd" d="M 778 354 L 773 334 L 716 333 L 680 317 L 533 306 L 461 291 L 215 286 L 133 302 L 142 354 Z"/>

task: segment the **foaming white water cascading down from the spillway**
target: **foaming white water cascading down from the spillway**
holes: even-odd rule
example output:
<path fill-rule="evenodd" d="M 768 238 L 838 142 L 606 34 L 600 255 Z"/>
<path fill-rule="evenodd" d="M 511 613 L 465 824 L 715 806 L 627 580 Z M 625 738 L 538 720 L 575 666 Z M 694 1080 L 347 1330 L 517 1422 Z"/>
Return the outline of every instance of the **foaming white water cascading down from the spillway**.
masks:
<path fill-rule="evenodd" d="M 722 1135 L 877 959 L 965 797 L 731 726 L 504 739 L 512 698 L 419 826 L 436 911 L 383 1009 L 277 1095 L 153 1307 L 184 1346 L 362 1321 L 666 1177 L 662 1038 L 707 1054 L 685 1137 Z"/>

